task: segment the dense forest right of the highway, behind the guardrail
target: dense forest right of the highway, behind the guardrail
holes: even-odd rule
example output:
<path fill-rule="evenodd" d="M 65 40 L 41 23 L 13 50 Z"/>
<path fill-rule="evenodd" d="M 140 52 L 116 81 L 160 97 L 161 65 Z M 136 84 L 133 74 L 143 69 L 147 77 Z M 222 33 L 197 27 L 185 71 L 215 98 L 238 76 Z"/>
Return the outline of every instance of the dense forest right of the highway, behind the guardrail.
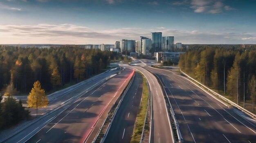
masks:
<path fill-rule="evenodd" d="M 195 46 L 180 55 L 179 67 L 204 85 L 229 95 L 236 103 L 243 101 L 245 94 L 245 100 L 255 104 L 255 46 Z"/>

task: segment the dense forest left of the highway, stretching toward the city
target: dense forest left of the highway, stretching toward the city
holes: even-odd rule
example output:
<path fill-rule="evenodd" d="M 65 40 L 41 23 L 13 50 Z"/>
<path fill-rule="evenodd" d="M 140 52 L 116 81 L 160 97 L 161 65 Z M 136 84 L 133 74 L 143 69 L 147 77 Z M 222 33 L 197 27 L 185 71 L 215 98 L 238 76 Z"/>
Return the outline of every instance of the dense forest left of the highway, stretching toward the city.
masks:
<path fill-rule="evenodd" d="M 106 69 L 117 52 L 63 45 L 60 48 L 19 48 L 0 45 L 0 89 L 28 93 L 36 80 L 45 91 L 80 82 Z M 9 87 L 8 87 L 9 86 Z"/>

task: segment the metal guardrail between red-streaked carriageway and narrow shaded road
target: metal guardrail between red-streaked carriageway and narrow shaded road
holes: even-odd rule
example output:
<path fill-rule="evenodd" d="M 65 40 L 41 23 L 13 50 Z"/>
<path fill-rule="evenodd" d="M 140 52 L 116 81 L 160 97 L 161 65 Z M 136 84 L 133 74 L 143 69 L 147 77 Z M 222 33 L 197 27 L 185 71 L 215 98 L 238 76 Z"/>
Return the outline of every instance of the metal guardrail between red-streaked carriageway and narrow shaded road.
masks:
<path fill-rule="evenodd" d="M 109 130 L 110 130 L 110 127 L 111 127 L 111 125 L 112 125 L 112 122 L 114 121 L 115 115 L 116 115 L 116 113 L 117 113 L 117 111 L 118 111 L 118 109 L 119 109 L 119 107 L 120 107 L 120 105 L 121 105 L 121 102 L 123 101 L 123 99 L 124 99 L 124 97 L 125 97 L 125 95 L 126 95 L 128 89 L 129 89 L 130 86 L 132 85 L 132 82 L 133 82 L 134 76 L 135 76 L 135 72 L 134 72 L 134 71 L 135 71 L 135 70 L 133 70 L 132 79 L 130 80 L 128 87 L 126 88 L 126 90 L 125 90 L 124 93 L 122 94 L 121 100 L 119 101 L 119 103 L 118 103 L 118 105 L 117 105 L 117 108 L 115 108 L 115 111 L 114 111 L 114 113 L 113 113 L 113 115 L 112 115 L 112 117 L 111 117 L 110 124 L 108 124 L 107 131 L 106 131 L 106 133 L 104 134 L 104 136 L 102 137 L 100 143 L 103 143 L 103 142 L 105 141 L 105 139 L 106 139 L 106 137 L 107 137 L 107 135 L 108 135 L 108 132 L 109 132 Z M 112 105 L 112 106 L 114 106 L 114 105 Z M 112 108 L 112 107 L 111 107 L 111 108 Z M 97 139 L 98 136 L 99 136 L 99 134 L 97 134 L 96 139 Z M 96 139 L 95 139 L 95 141 L 96 141 Z"/>

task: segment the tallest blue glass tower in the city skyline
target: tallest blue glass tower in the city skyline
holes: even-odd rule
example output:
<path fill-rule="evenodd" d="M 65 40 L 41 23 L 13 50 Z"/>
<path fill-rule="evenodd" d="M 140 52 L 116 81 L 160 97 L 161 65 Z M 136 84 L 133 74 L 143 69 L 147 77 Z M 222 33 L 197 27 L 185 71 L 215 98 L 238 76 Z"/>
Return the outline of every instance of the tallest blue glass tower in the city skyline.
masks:
<path fill-rule="evenodd" d="M 162 50 L 162 32 L 152 32 L 152 56 Z"/>

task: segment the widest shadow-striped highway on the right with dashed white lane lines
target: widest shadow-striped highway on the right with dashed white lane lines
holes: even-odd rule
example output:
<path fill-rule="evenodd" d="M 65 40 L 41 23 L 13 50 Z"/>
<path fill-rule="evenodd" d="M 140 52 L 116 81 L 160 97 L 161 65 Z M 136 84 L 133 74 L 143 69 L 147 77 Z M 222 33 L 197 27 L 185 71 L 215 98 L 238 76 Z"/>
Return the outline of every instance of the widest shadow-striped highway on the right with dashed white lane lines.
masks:
<path fill-rule="evenodd" d="M 147 67 L 155 73 L 173 107 L 184 143 L 255 143 L 255 123 L 240 116 L 178 72 Z"/>

